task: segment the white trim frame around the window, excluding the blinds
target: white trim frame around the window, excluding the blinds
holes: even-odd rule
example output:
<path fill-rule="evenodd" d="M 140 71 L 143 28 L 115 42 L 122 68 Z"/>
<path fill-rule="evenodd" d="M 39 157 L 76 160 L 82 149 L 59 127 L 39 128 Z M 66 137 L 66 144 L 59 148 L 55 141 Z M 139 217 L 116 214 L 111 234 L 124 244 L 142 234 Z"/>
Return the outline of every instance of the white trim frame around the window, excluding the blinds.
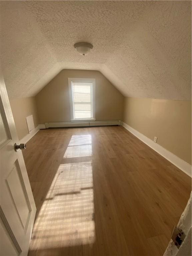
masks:
<path fill-rule="evenodd" d="M 72 82 L 91 82 L 93 83 L 93 118 L 82 118 L 82 119 L 74 119 L 74 111 L 73 111 L 73 98 L 72 98 Z M 70 99 L 70 112 L 71 112 L 71 122 L 80 122 L 80 121 L 95 121 L 95 78 L 68 78 L 69 84 L 69 99 Z"/>

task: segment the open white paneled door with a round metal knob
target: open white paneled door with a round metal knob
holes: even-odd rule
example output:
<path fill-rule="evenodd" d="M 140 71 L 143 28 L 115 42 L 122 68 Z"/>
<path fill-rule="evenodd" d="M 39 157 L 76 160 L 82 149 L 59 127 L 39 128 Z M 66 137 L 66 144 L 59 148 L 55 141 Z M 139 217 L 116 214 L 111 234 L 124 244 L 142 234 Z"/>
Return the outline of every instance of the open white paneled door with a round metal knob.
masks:
<path fill-rule="evenodd" d="M 15 123 L 0 73 L 0 255 L 27 255 L 36 214 Z"/>

